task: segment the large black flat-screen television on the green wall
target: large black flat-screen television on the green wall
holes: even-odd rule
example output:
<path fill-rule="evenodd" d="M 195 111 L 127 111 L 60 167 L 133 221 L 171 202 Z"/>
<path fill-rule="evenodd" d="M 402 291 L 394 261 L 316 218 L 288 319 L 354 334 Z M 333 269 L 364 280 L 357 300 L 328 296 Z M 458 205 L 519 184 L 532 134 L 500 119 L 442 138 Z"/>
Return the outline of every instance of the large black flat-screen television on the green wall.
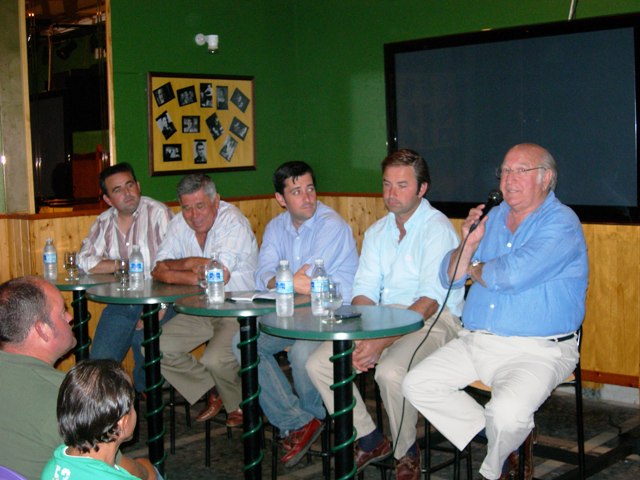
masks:
<path fill-rule="evenodd" d="M 538 143 L 582 222 L 638 224 L 639 40 L 633 14 L 386 44 L 389 151 L 423 155 L 427 198 L 464 218 Z"/>

